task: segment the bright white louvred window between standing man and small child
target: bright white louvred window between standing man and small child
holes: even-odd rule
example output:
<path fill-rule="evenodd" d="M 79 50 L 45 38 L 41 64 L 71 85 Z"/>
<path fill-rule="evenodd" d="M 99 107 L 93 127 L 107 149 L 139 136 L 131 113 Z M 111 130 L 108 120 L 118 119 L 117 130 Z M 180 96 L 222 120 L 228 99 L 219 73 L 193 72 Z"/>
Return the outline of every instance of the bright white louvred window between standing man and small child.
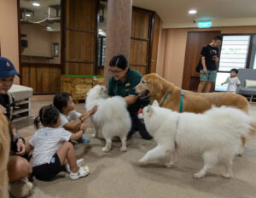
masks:
<path fill-rule="evenodd" d="M 231 69 L 246 68 L 251 37 L 251 35 L 223 36 L 215 91 L 226 91 L 228 85 L 222 86 L 221 83 L 230 76 Z"/>

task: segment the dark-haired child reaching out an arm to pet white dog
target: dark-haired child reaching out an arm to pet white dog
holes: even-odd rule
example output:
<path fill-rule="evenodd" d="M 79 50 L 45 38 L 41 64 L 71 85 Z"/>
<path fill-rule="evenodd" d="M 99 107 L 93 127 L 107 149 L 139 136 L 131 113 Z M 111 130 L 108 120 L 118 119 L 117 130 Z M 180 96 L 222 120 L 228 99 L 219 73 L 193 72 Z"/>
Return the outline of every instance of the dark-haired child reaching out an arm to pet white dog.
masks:
<path fill-rule="evenodd" d="M 89 110 L 84 114 L 74 110 L 74 103 L 72 97 L 68 93 L 58 93 L 55 95 L 54 102 L 55 108 L 61 112 L 61 125 L 67 131 L 71 133 L 77 133 L 79 127 L 84 125 L 83 122 L 90 116 L 91 113 L 96 111 L 96 108 Z M 85 138 L 84 136 L 81 139 L 78 139 L 80 143 L 89 143 L 90 139 Z"/>

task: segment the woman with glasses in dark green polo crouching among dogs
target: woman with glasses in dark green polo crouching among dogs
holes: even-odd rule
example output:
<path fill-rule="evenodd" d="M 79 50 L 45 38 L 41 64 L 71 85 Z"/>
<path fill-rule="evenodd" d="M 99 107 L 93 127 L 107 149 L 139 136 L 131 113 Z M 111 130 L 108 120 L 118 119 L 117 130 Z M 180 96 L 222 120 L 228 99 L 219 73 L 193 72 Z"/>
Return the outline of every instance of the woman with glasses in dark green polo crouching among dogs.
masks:
<path fill-rule="evenodd" d="M 119 95 L 125 99 L 128 105 L 128 110 L 131 116 L 131 131 L 128 133 L 128 138 L 136 131 L 139 131 L 143 139 L 152 139 L 146 130 L 145 125 L 138 119 L 137 111 L 149 104 L 150 100 L 139 99 L 134 88 L 137 86 L 143 75 L 129 68 L 128 61 L 124 55 L 114 56 L 109 63 L 109 73 L 112 77 L 108 82 L 108 95 Z"/>

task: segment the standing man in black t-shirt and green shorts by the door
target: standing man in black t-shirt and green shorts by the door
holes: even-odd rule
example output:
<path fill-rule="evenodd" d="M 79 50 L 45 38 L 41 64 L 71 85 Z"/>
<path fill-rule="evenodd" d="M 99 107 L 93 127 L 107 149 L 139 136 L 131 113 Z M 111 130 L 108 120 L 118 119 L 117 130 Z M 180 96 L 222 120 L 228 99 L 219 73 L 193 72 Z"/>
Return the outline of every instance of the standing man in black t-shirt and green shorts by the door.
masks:
<path fill-rule="evenodd" d="M 198 92 L 210 92 L 212 82 L 216 81 L 217 68 L 216 62 L 218 61 L 218 48 L 222 42 L 221 36 L 213 37 L 210 44 L 201 49 L 201 65 L 200 70 L 200 83 L 198 85 Z"/>

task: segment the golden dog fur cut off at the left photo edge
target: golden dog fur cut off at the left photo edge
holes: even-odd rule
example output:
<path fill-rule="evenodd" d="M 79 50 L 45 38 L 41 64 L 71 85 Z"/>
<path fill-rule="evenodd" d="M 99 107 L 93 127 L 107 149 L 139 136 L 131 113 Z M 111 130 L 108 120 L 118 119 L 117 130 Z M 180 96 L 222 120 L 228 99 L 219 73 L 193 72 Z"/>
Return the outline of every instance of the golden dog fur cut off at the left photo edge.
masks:
<path fill-rule="evenodd" d="M 8 172 L 7 164 L 9 161 L 10 137 L 8 122 L 0 112 L 0 197 L 9 197 L 8 193 Z"/>

